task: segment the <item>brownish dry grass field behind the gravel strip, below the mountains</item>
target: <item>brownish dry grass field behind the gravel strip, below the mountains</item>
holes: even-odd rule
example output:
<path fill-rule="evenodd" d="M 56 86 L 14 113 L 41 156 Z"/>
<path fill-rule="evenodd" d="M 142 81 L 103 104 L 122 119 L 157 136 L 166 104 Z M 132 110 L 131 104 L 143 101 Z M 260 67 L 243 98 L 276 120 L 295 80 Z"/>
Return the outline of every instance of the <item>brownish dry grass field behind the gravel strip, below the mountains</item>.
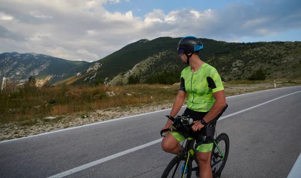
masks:
<path fill-rule="evenodd" d="M 273 80 L 230 81 L 226 96 L 273 88 Z M 277 79 L 277 87 L 301 85 L 301 80 Z M 136 84 L 125 86 L 54 86 L 21 88 L 0 94 L 0 123 L 31 120 L 45 116 L 85 113 L 98 109 L 139 106 L 154 101 L 173 100 L 178 85 Z"/>

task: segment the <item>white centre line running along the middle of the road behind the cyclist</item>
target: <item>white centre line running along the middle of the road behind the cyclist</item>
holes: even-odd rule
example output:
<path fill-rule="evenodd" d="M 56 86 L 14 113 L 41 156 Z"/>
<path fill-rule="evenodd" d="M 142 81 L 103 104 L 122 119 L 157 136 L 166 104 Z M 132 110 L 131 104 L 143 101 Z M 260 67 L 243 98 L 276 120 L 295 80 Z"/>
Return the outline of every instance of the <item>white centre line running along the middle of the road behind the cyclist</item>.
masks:
<path fill-rule="evenodd" d="M 236 114 L 239 114 L 239 113 L 241 113 L 241 112 L 250 110 L 250 109 L 252 109 L 252 108 L 258 107 L 258 106 L 260 106 L 260 105 L 266 104 L 266 103 L 268 103 L 268 102 L 272 102 L 272 101 L 274 101 L 274 100 L 277 100 L 277 99 L 280 99 L 280 98 L 282 98 L 282 97 L 289 96 L 289 95 L 292 95 L 292 94 L 295 94 L 295 93 L 298 93 L 298 92 L 301 92 L 301 91 L 296 91 L 296 92 L 293 92 L 293 93 L 290 93 L 290 94 L 286 94 L 286 95 L 277 97 L 277 98 L 275 98 L 275 99 L 268 100 L 268 101 L 266 101 L 266 102 L 262 102 L 262 103 L 260 103 L 260 104 L 254 105 L 254 106 L 252 106 L 252 107 L 249 107 L 249 108 L 246 108 L 246 109 L 243 109 L 243 110 L 240 110 L 240 111 L 237 111 L 237 112 L 234 112 L 234 113 L 225 115 L 225 116 L 223 116 L 223 117 L 220 117 L 219 120 L 224 119 L 224 118 L 227 118 L 227 117 L 230 117 L 230 116 L 233 116 L 233 115 L 236 115 Z M 92 166 L 94 166 L 94 165 L 100 164 L 100 163 L 105 162 L 105 161 L 107 161 L 107 160 L 111 160 L 111 159 L 114 159 L 114 158 L 116 158 L 116 157 L 125 155 L 125 154 L 127 154 L 127 153 L 130 153 L 130 152 L 133 152 L 133 151 L 136 151 L 136 150 L 145 148 L 145 147 L 147 147 L 147 146 L 150 146 L 150 145 L 159 143 L 159 142 L 162 141 L 162 139 L 163 139 L 163 138 L 160 138 L 160 139 L 154 140 L 154 141 L 152 141 L 152 142 L 148 142 L 148 143 L 142 144 L 142 145 L 140 145 L 140 146 L 137 146 L 137 147 L 133 147 L 133 148 L 127 149 L 127 150 L 125 150 L 125 151 L 122 151 L 122 152 L 119 152 L 119 153 L 116 153 L 116 154 L 113 154 L 113 155 L 110 155 L 110 156 L 107 156 L 107 157 L 104 157 L 104 158 L 95 160 L 95 161 L 93 161 L 93 162 L 90 162 L 90 163 L 87 163 L 87 164 L 84 164 L 84 165 L 75 167 L 75 168 L 73 168 L 73 169 L 70 169 L 70 170 L 67 170 L 67 171 L 58 173 L 58 174 L 56 174 L 56 175 L 53 175 L 53 176 L 50 176 L 50 177 L 47 177 L 47 178 L 54 178 L 54 177 L 60 178 L 60 177 L 66 176 L 66 175 L 70 175 L 70 174 L 72 174 L 72 173 L 75 173 L 75 172 L 81 171 L 81 170 L 83 170 L 83 169 L 92 167 Z"/>

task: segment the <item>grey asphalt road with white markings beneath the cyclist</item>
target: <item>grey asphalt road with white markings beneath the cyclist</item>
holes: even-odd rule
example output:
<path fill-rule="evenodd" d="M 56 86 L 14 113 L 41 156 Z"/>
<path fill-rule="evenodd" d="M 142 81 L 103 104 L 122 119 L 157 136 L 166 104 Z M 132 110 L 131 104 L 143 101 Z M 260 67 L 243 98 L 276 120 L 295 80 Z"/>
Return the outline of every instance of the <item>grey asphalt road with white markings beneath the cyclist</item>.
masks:
<path fill-rule="evenodd" d="M 301 86 L 227 97 L 216 128 L 230 137 L 221 177 L 287 177 L 301 152 L 298 91 Z M 169 112 L 2 141 L 0 177 L 160 177 L 174 156 L 160 142 Z"/>

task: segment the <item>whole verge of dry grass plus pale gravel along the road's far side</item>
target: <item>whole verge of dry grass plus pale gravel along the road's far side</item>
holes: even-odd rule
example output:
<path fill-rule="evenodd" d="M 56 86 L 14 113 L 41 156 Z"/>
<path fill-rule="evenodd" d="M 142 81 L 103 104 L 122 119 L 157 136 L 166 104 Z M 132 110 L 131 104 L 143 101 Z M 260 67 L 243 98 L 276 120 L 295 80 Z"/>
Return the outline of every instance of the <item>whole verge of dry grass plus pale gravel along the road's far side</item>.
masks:
<path fill-rule="evenodd" d="M 293 85 L 301 85 L 301 79 L 277 79 L 277 87 Z M 231 81 L 224 83 L 224 87 L 226 96 L 230 96 L 270 89 L 274 84 L 273 80 Z M 97 87 L 64 85 L 32 92 L 19 90 L 16 93 L 2 93 L 0 114 L 8 118 L 0 116 L 0 141 L 171 108 L 177 88 L 178 85 L 158 84 Z M 112 91 L 115 96 L 110 96 Z M 58 102 L 49 102 L 51 99 Z M 89 117 L 82 118 L 83 113 Z"/>

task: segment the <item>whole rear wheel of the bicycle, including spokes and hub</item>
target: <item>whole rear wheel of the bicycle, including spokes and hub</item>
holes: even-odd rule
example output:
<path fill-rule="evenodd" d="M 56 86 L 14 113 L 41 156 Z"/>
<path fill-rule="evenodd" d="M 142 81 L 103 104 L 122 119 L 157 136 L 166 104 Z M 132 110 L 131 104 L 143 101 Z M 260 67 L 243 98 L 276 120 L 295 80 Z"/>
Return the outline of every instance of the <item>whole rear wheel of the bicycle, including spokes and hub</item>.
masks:
<path fill-rule="evenodd" d="M 218 146 L 213 143 L 211 153 L 211 168 L 212 172 L 217 177 L 220 177 L 229 154 L 229 136 L 226 133 L 221 133 L 216 137 L 215 142 Z"/>

